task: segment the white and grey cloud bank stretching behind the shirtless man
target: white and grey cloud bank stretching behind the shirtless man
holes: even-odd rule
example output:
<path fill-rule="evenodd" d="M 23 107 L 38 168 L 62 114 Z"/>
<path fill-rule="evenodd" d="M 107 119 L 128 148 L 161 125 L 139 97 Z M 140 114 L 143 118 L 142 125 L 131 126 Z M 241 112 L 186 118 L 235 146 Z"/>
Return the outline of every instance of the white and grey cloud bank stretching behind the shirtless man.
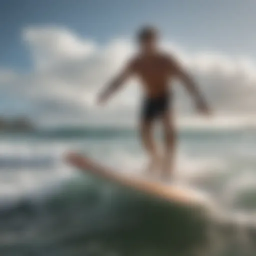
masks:
<path fill-rule="evenodd" d="M 128 40 L 115 39 L 99 46 L 59 27 L 28 27 L 23 40 L 34 68 L 28 74 L 2 69 L 0 88 L 9 98 L 18 95 L 30 106 L 30 114 L 41 120 L 82 118 L 88 123 L 136 116 L 139 88 L 135 80 L 106 108 L 94 104 L 95 93 L 134 51 Z M 192 72 L 215 111 L 225 115 L 256 114 L 256 67 L 251 59 L 186 52 L 170 42 L 164 42 L 164 48 L 174 51 Z M 191 112 L 191 100 L 184 92 L 177 92 L 177 106 Z"/>

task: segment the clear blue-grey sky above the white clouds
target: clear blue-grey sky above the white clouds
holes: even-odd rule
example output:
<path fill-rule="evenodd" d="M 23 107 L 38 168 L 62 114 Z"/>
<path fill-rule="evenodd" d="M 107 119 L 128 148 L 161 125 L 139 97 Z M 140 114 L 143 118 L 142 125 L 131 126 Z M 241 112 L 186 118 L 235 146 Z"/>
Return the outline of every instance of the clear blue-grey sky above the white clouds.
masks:
<path fill-rule="evenodd" d="M 253 0 L 1 0 L 0 5 L 0 66 L 31 66 L 21 40 L 30 25 L 64 26 L 103 43 L 152 23 L 187 49 L 256 56 Z"/>

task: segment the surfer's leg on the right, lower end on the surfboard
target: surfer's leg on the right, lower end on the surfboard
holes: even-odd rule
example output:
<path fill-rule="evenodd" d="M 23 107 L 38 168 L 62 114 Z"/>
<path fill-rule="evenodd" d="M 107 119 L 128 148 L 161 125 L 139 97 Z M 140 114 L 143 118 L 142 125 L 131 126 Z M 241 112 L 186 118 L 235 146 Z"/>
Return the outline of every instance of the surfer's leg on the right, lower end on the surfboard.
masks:
<path fill-rule="evenodd" d="M 169 111 L 162 116 L 165 153 L 162 166 L 162 177 L 170 177 L 175 165 L 176 155 L 176 132 L 173 116 Z"/>

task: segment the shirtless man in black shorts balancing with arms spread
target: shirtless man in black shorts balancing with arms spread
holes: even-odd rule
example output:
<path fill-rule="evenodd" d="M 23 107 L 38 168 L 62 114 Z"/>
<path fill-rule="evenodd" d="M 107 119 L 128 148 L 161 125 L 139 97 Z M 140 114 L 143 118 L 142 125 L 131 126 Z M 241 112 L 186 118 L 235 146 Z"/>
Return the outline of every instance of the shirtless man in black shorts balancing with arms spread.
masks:
<path fill-rule="evenodd" d="M 144 90 L 140 119 L 142 143 L 150 157 L 149 170 L 160 167 L 165 178 L 173 169 L 176 148 L 173 113 L 170 107 L 172 93 L 169 91 L 169 81 L 172 78 L 180 79 L 194 97 L 197 109 L 205 114 L 209 110 L 193 80 L 182 69 L 177 60 L 158 50 L 158 34 L 155 28 L 143 27 L 137 34 L 137 41 L 140 46 L 139 53 L 99 94 L 98 102 L 104 103 L 131 75 L 136 75 L 140 79 Z M 165 152 L 162 157 L 155 146 L 152 134 L 152 125 L 156 119 L 161 122 L 164 133 Z"/>

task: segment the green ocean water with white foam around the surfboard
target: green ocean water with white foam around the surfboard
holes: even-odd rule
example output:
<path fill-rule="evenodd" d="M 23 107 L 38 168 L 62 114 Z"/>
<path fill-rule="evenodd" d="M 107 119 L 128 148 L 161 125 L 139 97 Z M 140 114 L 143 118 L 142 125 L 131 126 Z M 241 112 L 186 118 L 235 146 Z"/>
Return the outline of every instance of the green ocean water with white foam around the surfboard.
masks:
<path fill-rule="evenodd" d="M 141 175 L 147 159 L 131 128 L 44 129 L 0 141 L 0 255 L 256 255 L 256 131 L 179 131 L 175 181 L 203 195 L 202 207 L 149 198 L 63 160 L 76 150 Z"/>

